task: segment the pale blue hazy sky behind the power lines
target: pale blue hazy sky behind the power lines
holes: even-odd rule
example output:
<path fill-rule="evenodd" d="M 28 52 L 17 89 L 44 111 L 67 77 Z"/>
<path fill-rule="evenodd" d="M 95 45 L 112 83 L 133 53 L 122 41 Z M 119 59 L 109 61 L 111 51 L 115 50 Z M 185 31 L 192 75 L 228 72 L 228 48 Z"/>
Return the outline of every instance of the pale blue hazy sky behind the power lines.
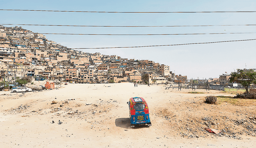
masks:
<path fill-rule="evenodd" d="M 255 0 L 0 0 L 0 9 L 67 10 L 104 12 L 189 12 L 256 11 Z M 52 35 L 68 48 L 131 47 L 256 39 L 256 12 L 244 13 L 82 13 L 28 12 L 0 10 L 0 24 L 46 24 L 86 26 L 190 26 L 204 27 L 64 27 L 21 26 L 36 33 L 66 34 L 206 34 L 166 36 Z M 17 25 L 4 25 L 14 27 Z M 20 26 L 20 25 L 19 25 Z M 256 68 L 256 40 L 196 45 L 121 49 L 79 49 L 83 52 L 118 55 L 128 59 L 148 59 L 170 66 L 176 75 L 188 79 L 218 78 L 236 69 Z"/>

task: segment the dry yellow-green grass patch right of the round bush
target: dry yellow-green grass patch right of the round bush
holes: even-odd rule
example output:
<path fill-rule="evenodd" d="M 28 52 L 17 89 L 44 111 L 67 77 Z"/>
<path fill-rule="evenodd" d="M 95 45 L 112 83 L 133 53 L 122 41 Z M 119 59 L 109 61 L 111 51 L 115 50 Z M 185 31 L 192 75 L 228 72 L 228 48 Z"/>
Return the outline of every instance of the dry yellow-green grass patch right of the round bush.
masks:
<path fill-rule="evenodd" d="M 230 103 L 232 105 L 238 105 L 238 106 L 250 106 L 255 105 L 256 106 L 256 99 L 239 99 L 234 98 L 231 96 L 217 96 L 217 103 Z"/>

